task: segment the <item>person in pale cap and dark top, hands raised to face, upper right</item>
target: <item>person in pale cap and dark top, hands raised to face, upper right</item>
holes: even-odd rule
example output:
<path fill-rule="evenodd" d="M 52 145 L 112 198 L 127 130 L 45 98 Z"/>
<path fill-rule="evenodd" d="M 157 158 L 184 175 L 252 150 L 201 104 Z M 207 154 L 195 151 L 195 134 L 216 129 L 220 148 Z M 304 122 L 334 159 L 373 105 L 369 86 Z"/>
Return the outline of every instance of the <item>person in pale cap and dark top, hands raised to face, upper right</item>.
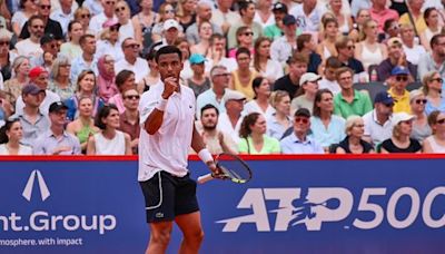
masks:
<path fill-rule="evenodd" d="M 404 52 L 404 48 L 402 47 L 403 42 L 399 38 L 390 38 L 387 41 L 388 47 L 388 58 L 383 60 L 380 65 L 377 67 L 377 80 L 386 81 L 390 77 L 390 71 L 396 67 L 405 67 L 409 70 L 409 76 L 412 80 L 417 79 L 417 67 L 407 60 L 406 55 Z"/>

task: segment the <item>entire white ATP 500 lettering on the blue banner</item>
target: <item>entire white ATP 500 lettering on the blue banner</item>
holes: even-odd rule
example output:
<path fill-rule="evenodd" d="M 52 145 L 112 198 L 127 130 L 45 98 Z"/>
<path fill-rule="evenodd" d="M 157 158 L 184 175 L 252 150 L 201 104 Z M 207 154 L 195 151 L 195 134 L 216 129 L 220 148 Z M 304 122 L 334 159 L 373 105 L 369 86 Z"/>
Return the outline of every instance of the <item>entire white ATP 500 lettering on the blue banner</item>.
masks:
<path fill-rule="evenodd" d="M 350 219 L 352 214 L 372 214 L 362 219 L 353 218 L 352 226 L 359 229 L 378 227 L 385 216 L 394 228 L 411 226 L 421 215 L 424 224 L 432 228 L 445 226 L 445 215 L 433 216 L 432 207 L 439 195 L 445 195 L 445 187 L 431 189 L 423 203 L 416 189 L 402 187 L 387 193 L 386 188 L 364 188 L 356 211 L 353 193 L 342 187 L 314 187 L 314 188 L 249 188 L 241 197 L 237 208 L 251 209 L 251 214 L 231 217 L 217 223 L 225 224 L 222 232 L 237 232 L 241 225 L 255 224 L 258 232 L 285 232 L 289 227 L 304 225 L 307 231 L 320 231 L 325 223 L 339 223 Z M 385 206 L 373 203 L 380 197 L 389 197 Z M 409 198 L 411 205 L 404 211 L 404 216 L 396 216 L 396 207 L 400 198 Z M 278 207 L 267 209 L 267 202 L 274 202 Z M 382 202 L 380 202 L 382 203 Z M 442 209 L 443 211 L 443 209 Z M 275 223 L 269 219 L 275 214 Z M 344 226 L 349 227 L 349 226 Z"/>

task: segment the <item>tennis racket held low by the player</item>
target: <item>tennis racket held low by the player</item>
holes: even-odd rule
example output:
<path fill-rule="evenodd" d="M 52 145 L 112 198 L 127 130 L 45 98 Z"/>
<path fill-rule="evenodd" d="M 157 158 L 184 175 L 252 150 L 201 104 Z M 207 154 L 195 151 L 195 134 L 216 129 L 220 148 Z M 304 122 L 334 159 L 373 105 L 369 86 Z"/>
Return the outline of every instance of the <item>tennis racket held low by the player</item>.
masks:
<path fill-rule="evenodd" d="M 233 154 L 220 154 L 215 159 L 217 168 L 221 170 L 221 175 L 215 176 L 207 174 L 198 177 L 198 183 L 204 184 L 211 179 L 230 179 L 237 184 L 245 184 L 251 178 L 251 170 L 246 162 Z"/>

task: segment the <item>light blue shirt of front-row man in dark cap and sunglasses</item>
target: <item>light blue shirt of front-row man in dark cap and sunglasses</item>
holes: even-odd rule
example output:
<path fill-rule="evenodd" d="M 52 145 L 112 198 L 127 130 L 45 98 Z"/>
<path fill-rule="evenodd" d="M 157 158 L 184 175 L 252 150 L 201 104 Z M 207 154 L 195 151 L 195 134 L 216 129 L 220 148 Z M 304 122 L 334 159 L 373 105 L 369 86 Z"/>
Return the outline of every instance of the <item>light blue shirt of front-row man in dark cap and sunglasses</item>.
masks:
<path fill-rule="evenodd" d="M 306 137 L 305 141 L 300 141 L 293 131 L 289 136 L 280 141 L 283 154 L 324 154 L 323 147 L 310 137 Z"/>

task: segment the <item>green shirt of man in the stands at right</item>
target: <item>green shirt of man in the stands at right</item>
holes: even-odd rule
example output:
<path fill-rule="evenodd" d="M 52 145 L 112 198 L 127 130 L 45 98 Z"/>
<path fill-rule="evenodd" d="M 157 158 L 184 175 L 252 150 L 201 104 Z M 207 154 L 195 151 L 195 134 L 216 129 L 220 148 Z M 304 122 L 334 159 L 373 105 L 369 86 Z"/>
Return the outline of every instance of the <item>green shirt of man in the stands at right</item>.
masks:
<path fill-rule="evenodd" d="M 354 89 L 354 99 L 350 104 L 343 98 L 342 92 L 334 96 L 334 114 L 345 119 L 353 115 L 364 116 L 370 110 L 373 110 L 373 104 L 365 91 Z"/>

